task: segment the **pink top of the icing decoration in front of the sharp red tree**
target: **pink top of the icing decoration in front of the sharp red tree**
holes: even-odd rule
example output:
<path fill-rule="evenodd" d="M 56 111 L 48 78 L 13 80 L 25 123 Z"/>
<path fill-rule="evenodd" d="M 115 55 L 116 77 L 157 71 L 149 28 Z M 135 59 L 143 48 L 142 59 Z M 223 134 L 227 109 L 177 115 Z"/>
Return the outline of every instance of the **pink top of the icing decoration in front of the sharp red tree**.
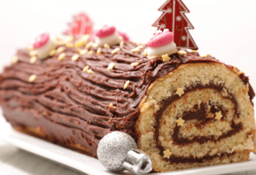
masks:
<path fill-rule="evenodd" d="M 165 44 L 172 42 L 173 39 L 174 36 L 172 32 L 158 33 L 150 38 L 150 40 L 147 42 L 147 46 L 151 48 L 164 46 Z"/>

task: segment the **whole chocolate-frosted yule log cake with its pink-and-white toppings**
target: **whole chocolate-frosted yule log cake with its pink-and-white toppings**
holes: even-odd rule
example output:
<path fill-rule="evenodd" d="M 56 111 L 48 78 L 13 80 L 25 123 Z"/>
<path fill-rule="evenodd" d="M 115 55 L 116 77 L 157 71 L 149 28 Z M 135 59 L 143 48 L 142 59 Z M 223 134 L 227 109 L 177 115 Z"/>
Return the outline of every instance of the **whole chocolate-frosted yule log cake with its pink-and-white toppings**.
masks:
<path fill-rule="evenodd" d="M 14 129 L 96 157 L 112 131 L 128 133 L 157 172 L 242 162 L 255 149 L 253 89 L 236 67 L 176 49 L 168 30 L 148 46 L 104 26 L 18 50 L 0 79 Z"/>

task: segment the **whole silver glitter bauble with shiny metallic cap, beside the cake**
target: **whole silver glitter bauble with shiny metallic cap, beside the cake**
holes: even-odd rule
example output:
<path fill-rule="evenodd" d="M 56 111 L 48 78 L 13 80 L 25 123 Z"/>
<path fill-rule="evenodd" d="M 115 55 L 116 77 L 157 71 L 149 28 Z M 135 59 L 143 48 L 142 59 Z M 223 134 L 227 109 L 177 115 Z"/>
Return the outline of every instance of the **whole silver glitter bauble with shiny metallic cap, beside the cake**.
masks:
<path fill-rule="evenodd" d="M 134 139 L 127 133 L 114 131 L 105 135 L 98 144 L 97 155 L 100 163 L 113 172 L 127 170 L 139 175 L 152 170 L 150 156 L 137 149 Z"/>

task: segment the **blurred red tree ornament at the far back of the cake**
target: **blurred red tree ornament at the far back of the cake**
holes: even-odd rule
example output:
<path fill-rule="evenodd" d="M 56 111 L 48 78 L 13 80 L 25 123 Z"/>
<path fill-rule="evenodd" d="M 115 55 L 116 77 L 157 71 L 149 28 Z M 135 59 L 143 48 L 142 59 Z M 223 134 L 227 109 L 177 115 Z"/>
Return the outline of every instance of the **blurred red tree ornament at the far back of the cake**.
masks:
<path fill-rule="evenodd" d="M 91 38 L 94 37 L 93 25 L 90 17 L 86 13 L 79 13 L 73 16 L 73 22 L 69 24 L 69 29 L 64 34 L 70 34 L 79 37 L 84 34 L 90 34 Z"/>

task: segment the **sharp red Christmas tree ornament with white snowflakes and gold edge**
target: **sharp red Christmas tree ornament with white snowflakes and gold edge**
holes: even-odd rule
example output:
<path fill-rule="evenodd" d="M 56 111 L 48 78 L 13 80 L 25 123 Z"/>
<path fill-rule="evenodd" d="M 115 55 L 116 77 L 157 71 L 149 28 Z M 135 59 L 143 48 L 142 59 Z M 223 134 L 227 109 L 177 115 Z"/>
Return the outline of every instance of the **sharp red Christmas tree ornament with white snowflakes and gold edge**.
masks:
<path fill-rule="evenodd" d="M 177 44 L 177 48 L 198 49 L 189 33 L 189 29 L 194 29 L 194 27 L 184 14 L 189 13 L 189 9 L 183 1 L 168 0 L 158 11 L 163 11 L 163 13 L 152 26 L 158 28 L 158 30 L 168 28 L 174 34 L 174 42 Z"/>

